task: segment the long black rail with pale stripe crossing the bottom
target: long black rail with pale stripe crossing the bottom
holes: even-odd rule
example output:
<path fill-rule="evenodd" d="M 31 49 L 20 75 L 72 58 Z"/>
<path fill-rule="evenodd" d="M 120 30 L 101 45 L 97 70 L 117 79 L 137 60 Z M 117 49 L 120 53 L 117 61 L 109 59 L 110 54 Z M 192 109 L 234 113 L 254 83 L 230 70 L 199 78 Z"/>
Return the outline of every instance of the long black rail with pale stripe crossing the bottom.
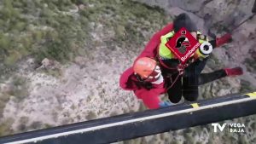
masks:
<path fill-rule="evenodd" d="M 225 101 L 242 100 L 248 98 L 248 95 L 228 95 L 217 97 L 211 100 L 197 101 L 199 106 L 208 106 L 218 104 Z M 81 122 L 77 124 L 67 124 L 46 130 L 36 130 L 18 135 L 9 135 L 0 138 L 0 143 L 21 141 L 40 137 L 44 135 L 58 134 L 72 130 L 82 130 L 95 127 L 102 124 L 113 124 L 121 121 L 127 121 L 136 118 L 154 116 L 162 113 L 177 112 L 192 108 L 189 104 L 181 104 L 172 107 L 166 107 L 157 110 L 148 110 L 145 112 L 135 112 L 123 114 L 111 118 L 100 118 Z M 114 141 L 124 141 L 131 138 L 137 138 L 145 135 L 154 135 L 169 130 L 180 130 L 193 127 L 195 125 L 209 124 L 213 122 L 223 121 L 230 118 L 239 118 L 256 113 L 256 99 L 244 101 L 241 103 L 229 104 L 221 107 L 207 108 L 194 112 L 183 112 L 164 118 L 153 118 L 144 120 L 143 122 L 135 122 L 131 124 L 117 125 L 84 132 L 83 134 L 73 134 L 60 136 L 58 138 L 50 138 L 48 140 L 38 141 L 39 144 L 84 144 L 84 143 L 109 143 Z M 32 142 L 33 143 L 33 142 Z"/>

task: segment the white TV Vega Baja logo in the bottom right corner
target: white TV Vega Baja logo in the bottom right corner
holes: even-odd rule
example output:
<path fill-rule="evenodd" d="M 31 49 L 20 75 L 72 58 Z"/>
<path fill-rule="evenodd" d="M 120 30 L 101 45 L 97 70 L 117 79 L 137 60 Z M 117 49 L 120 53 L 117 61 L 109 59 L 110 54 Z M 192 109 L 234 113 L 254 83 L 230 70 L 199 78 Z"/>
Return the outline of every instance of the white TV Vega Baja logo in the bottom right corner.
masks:
<path fill-rule="evenodd" d="M 218 132 L 223 130 L 228 130 L 231 133 L 244 133 L 245 132 L 245 124 L 240 123 L 232 123 L 232 124 L 218 124 L 212 123 L 213 131 Z"/>

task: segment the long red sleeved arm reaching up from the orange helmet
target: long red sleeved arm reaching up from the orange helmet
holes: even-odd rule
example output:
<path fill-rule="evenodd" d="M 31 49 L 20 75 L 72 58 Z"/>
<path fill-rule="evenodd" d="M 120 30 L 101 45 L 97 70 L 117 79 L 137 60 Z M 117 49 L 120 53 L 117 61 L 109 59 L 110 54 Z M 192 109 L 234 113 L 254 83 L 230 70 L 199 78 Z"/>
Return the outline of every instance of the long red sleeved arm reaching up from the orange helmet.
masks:
<path fill-rule="evenodd" d="M 164 28 L 162 28 L 159 32 L 156 32 L 153 37 L 147 43 L 143 52 L 137 57 L 152 57 L 154 58 L 157 54 L 157 47 L 160 44 L 160 37 L 166 35 L 168 32 L 171 32 L 173 29 L 173 24 L 170 23 Z"/>

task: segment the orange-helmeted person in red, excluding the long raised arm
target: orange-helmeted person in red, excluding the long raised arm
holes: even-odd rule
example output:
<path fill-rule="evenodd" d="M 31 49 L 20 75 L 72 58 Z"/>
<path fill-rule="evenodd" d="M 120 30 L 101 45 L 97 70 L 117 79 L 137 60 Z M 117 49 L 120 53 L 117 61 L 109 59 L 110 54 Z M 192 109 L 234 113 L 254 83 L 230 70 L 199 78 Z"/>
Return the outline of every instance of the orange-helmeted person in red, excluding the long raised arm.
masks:
<path fill-rule="evenodd" d="M 168 101 L 161 101 L 160 95 L 166 93 L 164 78 L 156 60 L 148 57 L 138 58 L 133 66 L 120 77 L 122 89 L 133 90 L 146 107 L 156 109 L 171 106 Z"/>

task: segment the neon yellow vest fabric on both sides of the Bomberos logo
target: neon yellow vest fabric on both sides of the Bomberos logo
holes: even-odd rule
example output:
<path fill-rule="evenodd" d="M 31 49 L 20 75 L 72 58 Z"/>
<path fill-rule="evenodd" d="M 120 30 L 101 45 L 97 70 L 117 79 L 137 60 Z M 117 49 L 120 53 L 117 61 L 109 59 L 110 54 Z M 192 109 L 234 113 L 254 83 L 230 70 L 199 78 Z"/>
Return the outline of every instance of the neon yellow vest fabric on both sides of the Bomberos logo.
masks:
<path fill-rule="evenodd" d="M 196 32 L 196 34 L 200 35 L 201 32 Z M 172 53 L 172 51 L 166 47 L 167 41 L 173 35 L 174 35 L 174 31 L 169 32 L 166 35 L 160 37 L 161 42 L 160 42 L 159 55 L 160 55 L 160 57 L 162 57 L 164 59 L 173 59 L 175 57 L 174 54 Z M 199 39 L 198 41 L 199 41 L 199 43 L 204 43 L 205 41 L 208 41 L 208 38 L 207 38 L 207 40 Z M 196 49 L 195 54 L 198 55 L 199 58 L 207 57 L 207 55 L 202 55 L 199 49 Z M 193 56 L 193 55 L 191 55 L 191 56 Z"/>

